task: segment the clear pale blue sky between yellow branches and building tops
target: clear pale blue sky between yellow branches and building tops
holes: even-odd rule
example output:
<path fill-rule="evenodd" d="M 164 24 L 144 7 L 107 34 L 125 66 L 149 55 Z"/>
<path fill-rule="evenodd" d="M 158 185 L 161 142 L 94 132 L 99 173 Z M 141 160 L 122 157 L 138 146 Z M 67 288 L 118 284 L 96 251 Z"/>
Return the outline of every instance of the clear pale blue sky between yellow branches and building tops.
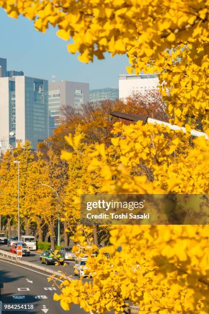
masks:
<path fill-rule="evenodd" d="M 7 58 L 8 70 L 23 70 L 25 75 L 49 81 L 55 74 L 56 81 L 87 82 L 90 89 L 118 87 L 118 74 L 126 73 L 126 56 L 106 54 L 105 60 L 95 58 L 93 64 L 83 64 L 67 51 L 67 42 L 56 36 L 54 28 L 40 33 L 26 17 L 13 19 L 2 8 L 0 21 L 0 57 Z"/>

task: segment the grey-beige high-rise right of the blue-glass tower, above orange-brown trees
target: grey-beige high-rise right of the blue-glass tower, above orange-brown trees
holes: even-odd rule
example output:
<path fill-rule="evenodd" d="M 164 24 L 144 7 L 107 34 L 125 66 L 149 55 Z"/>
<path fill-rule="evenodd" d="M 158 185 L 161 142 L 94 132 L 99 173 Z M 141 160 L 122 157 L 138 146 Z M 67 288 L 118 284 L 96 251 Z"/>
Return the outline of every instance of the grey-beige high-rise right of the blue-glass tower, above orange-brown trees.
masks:
<path fill-rule="evenodd" d="M 60 125 L 61 106 L 71 106 L 79 111 L 88 102 L 89 83 L 49 82 L 49 135 Z"/>

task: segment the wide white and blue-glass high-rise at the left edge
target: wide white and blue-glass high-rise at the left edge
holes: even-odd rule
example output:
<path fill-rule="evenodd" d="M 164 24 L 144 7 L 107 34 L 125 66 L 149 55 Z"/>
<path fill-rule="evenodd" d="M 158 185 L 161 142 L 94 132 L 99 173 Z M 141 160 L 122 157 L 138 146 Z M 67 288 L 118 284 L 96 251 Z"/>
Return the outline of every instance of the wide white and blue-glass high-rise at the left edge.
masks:
<path fill-rule="evenodd" d="M 0 147 L 48 137 L 48 81 L 27 76 L 0 78 Z"/>

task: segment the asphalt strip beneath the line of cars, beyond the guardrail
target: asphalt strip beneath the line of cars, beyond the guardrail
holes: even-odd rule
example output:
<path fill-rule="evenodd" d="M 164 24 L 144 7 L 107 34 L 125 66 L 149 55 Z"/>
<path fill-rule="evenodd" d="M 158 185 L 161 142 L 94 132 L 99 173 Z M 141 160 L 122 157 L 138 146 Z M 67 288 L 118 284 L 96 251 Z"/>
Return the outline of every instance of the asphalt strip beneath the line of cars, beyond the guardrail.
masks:
<path fill-rule="evenodd" d="M 8 251 L 9 252 L 9 247 L 7 245 L 0 245 L 0 249 L 4 250 L 4 251 Z M 41 264 L 40 260 L 39 260 L 40 254 L 37 253 L 36 251 L 31 251 L 30 256 L 24 256 L 22 258 L 23 261 L 27 261 L 30 263 L 34 263 L 37 264 L 39 266 L 43 266 L 43 267 L 47 267 L 50 268 L 52 270 L 58 271 L 61 270 L 62 272 L 65 272 L 67 275 L 72 275 L 73 276 L 73 267 L 75 262 L 74 261 L 66 261 L 66 263 L 68 264 L 67 266 L 56 266 L 56 265 L 47 265 L 46 264 Z M 78 279 L 78 277 L 72 277 L 73 279 Z"/>

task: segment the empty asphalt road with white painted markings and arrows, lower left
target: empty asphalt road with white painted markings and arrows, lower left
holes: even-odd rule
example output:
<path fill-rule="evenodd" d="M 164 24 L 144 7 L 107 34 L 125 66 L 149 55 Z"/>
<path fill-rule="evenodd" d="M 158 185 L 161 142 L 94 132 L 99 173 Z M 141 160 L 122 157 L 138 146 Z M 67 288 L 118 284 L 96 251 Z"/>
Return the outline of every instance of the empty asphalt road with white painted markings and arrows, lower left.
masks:
<path fill-rule="evenodd" d="M 2 312 L 0 303 L 0 314 L 17 314 L 18 312 L 23 314 L 66 313 L 61 308 L 59 302 L 53 301 L 54 292 L 59 294 L 59 290 L 57 287 L 53 287 L 51 282 L 47 281 L 48 277 L 50 275 L 43 271 L 0 260 L 0 297 L 2 299 Z M 13 304 L 14 306 L 19 304 L 26 307 L 30 305 L 32 309 L 27 308 L 24 310 L 22 308 L 19 311 L 8 311 L 4 309 L 7 304 Z M 77 305 L 73 305 L 69 312 L 71 314 L 85 313 Z"/>

